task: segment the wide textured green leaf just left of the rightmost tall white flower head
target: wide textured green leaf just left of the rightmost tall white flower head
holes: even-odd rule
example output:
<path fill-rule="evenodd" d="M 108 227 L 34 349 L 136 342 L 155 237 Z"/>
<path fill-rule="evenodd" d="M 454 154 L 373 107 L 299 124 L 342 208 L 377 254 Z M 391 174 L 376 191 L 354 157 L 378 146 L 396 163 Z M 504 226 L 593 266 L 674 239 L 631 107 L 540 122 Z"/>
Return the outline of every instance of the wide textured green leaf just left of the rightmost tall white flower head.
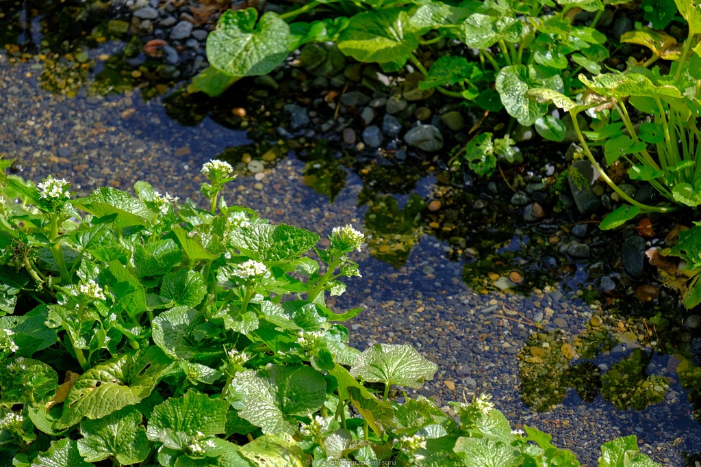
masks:
<path fill-rule="evenodd" d="M 266 265 L 297 258 L 318 241 L 315 233 L 285 224 L 254 224 L 231 232 L 232 246 Z"/>

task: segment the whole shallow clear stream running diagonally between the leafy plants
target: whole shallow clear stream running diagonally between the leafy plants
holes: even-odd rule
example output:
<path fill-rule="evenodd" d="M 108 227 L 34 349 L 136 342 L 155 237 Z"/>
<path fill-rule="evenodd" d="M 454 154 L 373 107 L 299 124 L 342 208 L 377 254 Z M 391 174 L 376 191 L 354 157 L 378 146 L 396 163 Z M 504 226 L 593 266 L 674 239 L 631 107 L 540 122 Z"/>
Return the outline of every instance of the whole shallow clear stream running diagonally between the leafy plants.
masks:
<path fill-rule="evenodd" d="M 86 46 L 91 57 L 118 55 L 123 47 L 119 42 Z M 637 435 L 642 451 L 670 466 L 684 465 L 683 452 L 701 451 L 701 426 L 669 355 L 655 351 L 649 362 L 639 365 L 642 377 L 672 378 L 660 403 L 625 410 L 601 396 L 599 379 L 590 375 L 597 365 L 611 370 L 625 358 L 640 356 L 634 339 L 616 336 L 641 333 L 641 321 L 608 319 L 611 313 L 604 312 L 604 324 L 589 326 L 588 335 L 599 330 L 606 338 L 580 335 L 592 313 L 600 311 L 597 299 L 606 303 L 607 297 L 587 291 L 587 304 L 577 293 L 592 281 L 584 265 L 571 265 L 547 244 L 553 235 L 549 229 L 539 232 L 520 225 L 515 213 L 505 209 L 505 200 L 480 197 L 479 191 L 453 193 L 428 163 L 411 160 L 395 166 L 374 154 L 358 159 L 333 144 L 324 151 L 323 144 L 313 148 L 303 143 L 296 151 L 285 147 L 271 155 L 268 149 L 276 147 L 277 139 L 262 124 L 252 123 L 260 126 L 254 144 L 245 132 L 220 125 L 226 124 L 222 113 L 209 114 L 219 123 L 206 116 L 206 109 L 189 126 L 174 120 L 170 116 L 177 114 L 187 121 L 192 108 L 182 102 L 191 102 L 179 100 L 177 91 L 168 87 L 161 88 L 162 97 L 151 97 L 153 89 L 146 87 L 147 100 L 139 90 L 107 96 L 91 92 L 90 83 L 101 69 L 90 71 L 75 88 L 76 96 L 67 97 L 46 86 L 45 60 L 28 57 L 11 63 L 10 54 L 0 53 L 0 97 L 5 102 L 0 108 L 0 151 L 18 160 L 15 167 L 22 169 L 22 176 L 41 181 L 53 174 L 83 193 L 104 184 L 130 190 L 144 179 L 156 190 L 198 200 L 203 162 L 215 157 L 238 162 L 241 176 L 225 194 L 230 204 L 250 206 L 274 223 L 298 225 L 322 236 L 345 223 L 367 233 L 367 250 L 355 255 L 363 277 L 348 280 L 348 293 L 331 302 L 340 309 L 365 307 L 348 323 L 355 347 L 413 344 L 438 363 L 434 381 L 421 392 L 436 396 L 441 405 L 461 400 L 463 394 L 469 398 L 490 392 L 513 424 L 551 433 L 555 444 L 572 449 L 583 464 L 594 465 L 601 442 L 619 435 Z M 245 99 L 249 91 L 241 88 L 236 97 L 235 90 L 236 104 L 217 105 L 229 112 L 234 106 L 252 106 Z M 213 103 L 195 109 L 208 105 Z M 268 153 L 264 172 L 254 175 L 245 169 L 239 162 L 245 153 L 253 158 Z M 429 211 L 428 202 L 436 199 L 442 201 L 441 209 Z M 499 291 L 489 272 L 501 276 L 512 270 L 524 275 L 524 285 L 515 288 L 517 293 Z M 557 324 L 563 322 L 559 319 L 564 326 Z M 522 348 L 535 331 L 542 334 L 535 347 L 544 348 L 542 342 L 547 342 L 547 351 L 524 355 Z M 587 358 L 564 361 L 561 344 L 576 340 L 603 349 L 587 354 L 583 345 L 579 353 Z M 536 356 L 546 361 L 552 357 L 553 363 L 545 368 L 526 362 L 519 371 L 519 358 L 523 362 Z M 592 365 L 579 365 L 580 377 L 576 370 L 563 368 L 582 362 Z M 533 379 L 540 370 L 540 379 Z M 557 393 L 542 391 L 553 378 L 562 378 L 557 379 L 562 384 Z M 621 396 L 625 388 L 611 391 Z M 524 400 L 544 411 L 531 410 Z"/>

